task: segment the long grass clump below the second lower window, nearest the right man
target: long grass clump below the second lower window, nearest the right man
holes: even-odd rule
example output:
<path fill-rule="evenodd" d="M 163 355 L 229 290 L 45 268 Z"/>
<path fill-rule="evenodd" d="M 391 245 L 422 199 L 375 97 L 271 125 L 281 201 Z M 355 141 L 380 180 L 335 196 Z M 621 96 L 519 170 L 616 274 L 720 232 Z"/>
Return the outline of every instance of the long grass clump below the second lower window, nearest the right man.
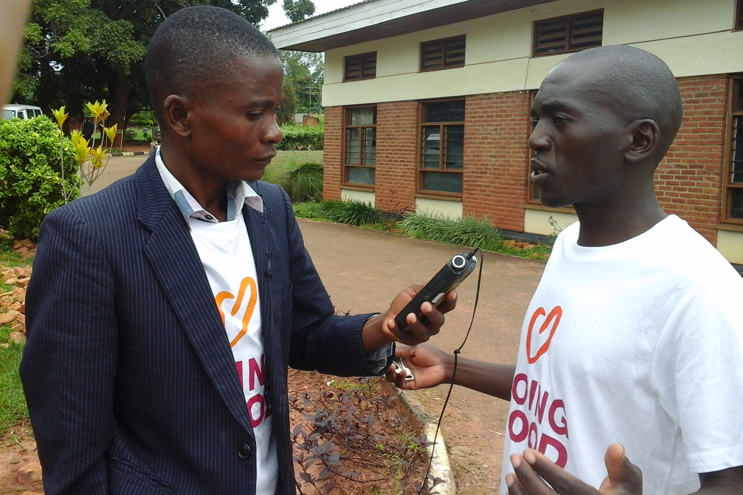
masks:
<path fill-rule="evenodd" d="M 398 228 L 404 235 L 415 239 L 478 247 L 487 251 L 498 251 L 503 243 L 498 230 L 490 226 L 487 220 L 474 217 L 451 220 L 409 212 L 403 215 Z"/>

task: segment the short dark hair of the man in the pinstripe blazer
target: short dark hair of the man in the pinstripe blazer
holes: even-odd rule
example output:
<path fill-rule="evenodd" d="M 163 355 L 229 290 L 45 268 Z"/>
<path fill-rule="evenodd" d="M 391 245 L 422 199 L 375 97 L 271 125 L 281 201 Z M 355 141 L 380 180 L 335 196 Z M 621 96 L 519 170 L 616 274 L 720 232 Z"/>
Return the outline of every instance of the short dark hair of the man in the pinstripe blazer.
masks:
<path fill-rule="evenodd" d="M 244 56 L 277 53 L 265 34 L 236 13 L 200 5 L 168 16 L 152 36 L 145 59 L 147 87 L 160 123 L 166 96 L 209 101 L 224 81 L 236 77 L 235 59 Z"/>

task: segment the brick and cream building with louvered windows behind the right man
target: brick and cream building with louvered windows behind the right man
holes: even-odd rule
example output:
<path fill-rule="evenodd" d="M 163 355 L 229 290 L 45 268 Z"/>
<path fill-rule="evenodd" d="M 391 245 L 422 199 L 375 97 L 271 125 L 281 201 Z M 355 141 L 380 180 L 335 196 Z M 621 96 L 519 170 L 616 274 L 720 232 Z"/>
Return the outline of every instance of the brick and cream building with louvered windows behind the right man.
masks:
<path fill-rule="evenodd" d="M 655 53 L 685 112 L 656 174 L 661 204 L 743 265 L 743 0 L 367 0 L 270 36 L 325 52 L 326 199 L 524 236 L 576 220 L 527 180 L 545 74 L 586 47 Z"/>

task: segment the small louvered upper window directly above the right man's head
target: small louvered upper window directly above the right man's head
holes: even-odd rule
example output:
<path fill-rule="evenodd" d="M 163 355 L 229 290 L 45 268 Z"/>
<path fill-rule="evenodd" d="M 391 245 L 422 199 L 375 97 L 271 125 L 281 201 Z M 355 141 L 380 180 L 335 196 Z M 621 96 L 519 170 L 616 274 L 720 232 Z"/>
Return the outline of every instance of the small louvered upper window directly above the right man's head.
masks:
<path fill-rule="evenodd" d="M 534 22 L 533 56 L 600 47 L 603 10 Z"/>

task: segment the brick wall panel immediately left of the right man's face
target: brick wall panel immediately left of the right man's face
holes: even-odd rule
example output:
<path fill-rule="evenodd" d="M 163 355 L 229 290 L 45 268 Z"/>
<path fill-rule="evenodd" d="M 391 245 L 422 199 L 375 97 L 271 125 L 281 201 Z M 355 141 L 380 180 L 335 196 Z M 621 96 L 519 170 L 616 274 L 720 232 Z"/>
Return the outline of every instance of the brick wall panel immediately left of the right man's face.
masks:
<path fill-rule="evenodd" d="M 530 105 L 528 91 L 467 96 L 464 216 L 524 230 Z"/>

